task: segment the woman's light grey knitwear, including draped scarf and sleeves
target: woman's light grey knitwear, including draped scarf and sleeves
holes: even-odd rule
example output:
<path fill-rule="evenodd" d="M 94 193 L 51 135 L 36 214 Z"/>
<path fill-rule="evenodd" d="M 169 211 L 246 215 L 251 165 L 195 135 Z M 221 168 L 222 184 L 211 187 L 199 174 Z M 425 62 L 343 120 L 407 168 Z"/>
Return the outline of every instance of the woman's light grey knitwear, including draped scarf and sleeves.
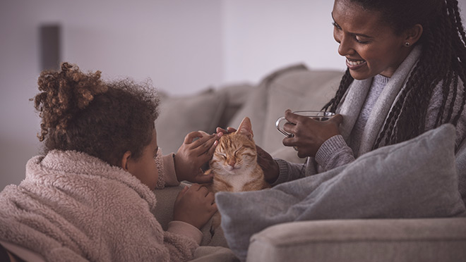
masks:
<path fill-rule="evenodd" d="M 342 125 L 340 125 L 341 135 L 331 137 L 322 144 L 316 158 L 309 158 L 306 162 L 305 173 L 301 172 L 302 164 L 275 159 L 280 166 L 280 175 L 275 184 L 343 166 L 354 161 L 354 158 L 371 151 L 390 108 L 402 87 L 406 85 L 420 54 L 421 47 L 417 46 L 390 78 L 378 75 L 367 80 L 354 80 L 345 94 L 340 108 L 337 108 L 337 113 L 342 114 L 344 118 Z M 465 93 L 462 89 L 462 82 L 460 82 L 458 83 L 458 96 L 463 95 Z M 441 85 L 438 85 L 428 107 L 426 130 L 434 128 L 442 98 Z M 455 112 L 458 112 L 459 109 L 460 103 L 456 103 Z M 466 110 L 462 111 L 456 126 L 456 136 L 460 192 L 465 199 Z"/>

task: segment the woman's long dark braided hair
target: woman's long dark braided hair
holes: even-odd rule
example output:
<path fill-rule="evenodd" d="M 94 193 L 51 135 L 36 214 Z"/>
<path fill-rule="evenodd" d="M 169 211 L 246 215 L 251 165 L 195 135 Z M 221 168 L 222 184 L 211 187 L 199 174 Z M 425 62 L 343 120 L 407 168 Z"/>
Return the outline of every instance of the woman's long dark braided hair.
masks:
<path fill-rule="evenodd" d="M 456 0 L 349 0 L 369 11 L 378 11 L 396 34 L 421 24 L 424 31 L 417 44 L 422 55 L 402 89 L 378 135 L 374 149 L 422 134 L 426 111 L 434 88 L 441 85 L 443 100 L 435 126 L 456 125 L 466 102 L 466 35 Z M 335 112 L 354 79 L 345 72 L 340 87 L 323 110 Z M 458 82 L 462 94 L 458 95 Z M 455 105 L 460 109 L 455 110 Z"/>

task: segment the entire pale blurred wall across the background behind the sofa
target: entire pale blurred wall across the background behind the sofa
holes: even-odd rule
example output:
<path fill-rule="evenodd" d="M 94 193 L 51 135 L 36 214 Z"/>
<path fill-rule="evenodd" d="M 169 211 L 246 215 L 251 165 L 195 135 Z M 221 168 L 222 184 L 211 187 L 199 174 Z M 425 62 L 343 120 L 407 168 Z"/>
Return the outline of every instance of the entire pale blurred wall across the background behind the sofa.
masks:
<path fill-rule="evenodd" d="M 40 26 L 61 27 L 62 61 L 173 95 L 256 83 L 293 63 L 345 69 L 330 0 L 1 0 L 0 190 L 37 154 Z M 460 0 L 466 6 L 466 0 Z"/>

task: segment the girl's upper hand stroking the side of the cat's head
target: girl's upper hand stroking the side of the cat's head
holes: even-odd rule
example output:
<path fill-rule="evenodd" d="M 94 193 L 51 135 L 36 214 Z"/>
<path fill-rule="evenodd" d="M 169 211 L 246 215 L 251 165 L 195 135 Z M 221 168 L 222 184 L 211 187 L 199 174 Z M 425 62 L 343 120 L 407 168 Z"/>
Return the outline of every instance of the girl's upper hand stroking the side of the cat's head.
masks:
<path fill-rule="evenodd" d="M 195 138 L 197 140 L 193 141 Z M 211 175 L 204 175 L 201 166 L 212 158 L 221 135 L 208 135 L 203 131 L 190 132 L 174 156 L 175 172 L 179 181 L 205 183 L 212 181 Z"/>

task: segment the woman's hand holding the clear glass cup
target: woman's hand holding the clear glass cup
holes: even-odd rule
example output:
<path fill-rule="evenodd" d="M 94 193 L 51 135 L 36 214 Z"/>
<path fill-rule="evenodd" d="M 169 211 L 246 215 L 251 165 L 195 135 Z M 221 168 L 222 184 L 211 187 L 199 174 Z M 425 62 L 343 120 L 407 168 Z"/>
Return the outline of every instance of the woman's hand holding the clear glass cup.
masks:
<path fill-rule="evenodd" d="M 289 109 L 285 111 L 285 118 L 289 123 L 283 125 L 283 130 L 294 136 L 283 139 L 283 144 L 294 146 L 300 158 L 316 156 L 323 142 L 330 137 L 340 135 L 339 126 L 343 121 L 340 114 L 333 116 L 330 120 L 318 121 L 306 116 L 299 116 Z"/>

